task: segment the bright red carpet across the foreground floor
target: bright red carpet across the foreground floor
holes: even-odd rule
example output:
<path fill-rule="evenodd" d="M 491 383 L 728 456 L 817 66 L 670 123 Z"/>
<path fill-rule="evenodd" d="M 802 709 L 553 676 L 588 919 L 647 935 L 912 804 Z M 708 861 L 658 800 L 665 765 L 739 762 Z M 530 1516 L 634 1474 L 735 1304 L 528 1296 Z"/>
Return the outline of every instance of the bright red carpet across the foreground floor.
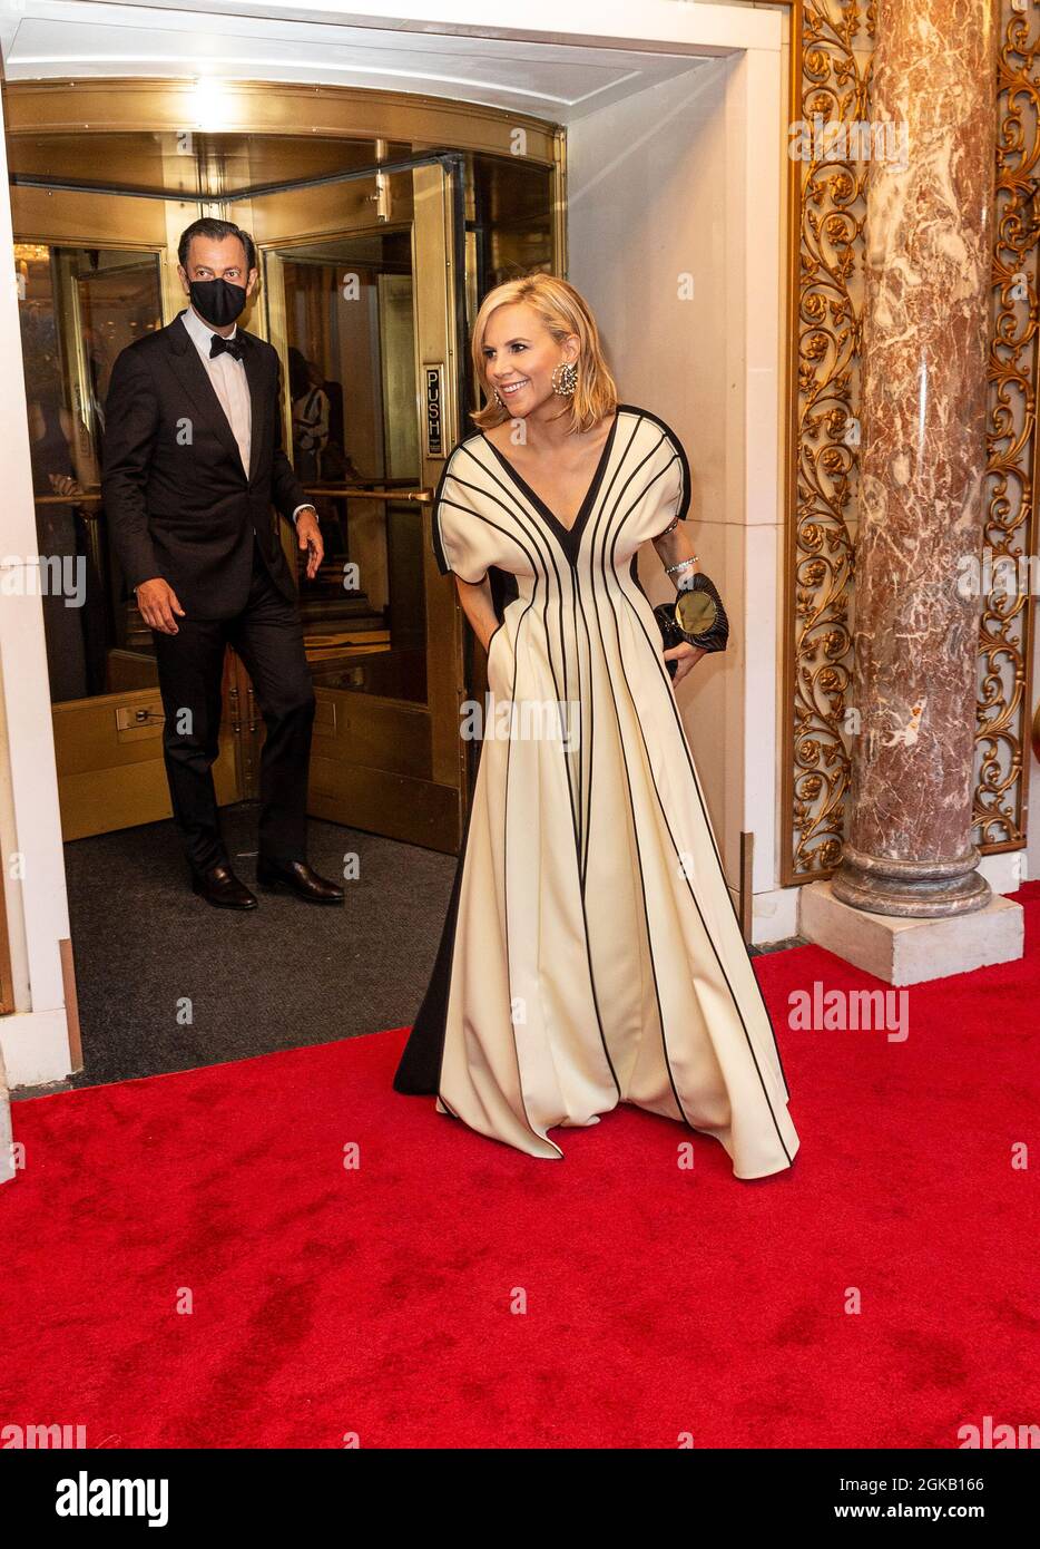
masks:
<path fill-rule="evenodd" d="M 1035 1422 L 1040 884 L 1015 897 L 1026 959 L 912 988 L 905 1042 L 788 1030 L 789 990 L 878 981 L 757 959 L 802 1135 L 774 1179 L 709 1139 L 679 1171 L 689 1131 L 630 1108 L 525 1157 L 392 1092 L 399 1032 L 17 1103 L 0 1424 L 950 1448 Z"/>

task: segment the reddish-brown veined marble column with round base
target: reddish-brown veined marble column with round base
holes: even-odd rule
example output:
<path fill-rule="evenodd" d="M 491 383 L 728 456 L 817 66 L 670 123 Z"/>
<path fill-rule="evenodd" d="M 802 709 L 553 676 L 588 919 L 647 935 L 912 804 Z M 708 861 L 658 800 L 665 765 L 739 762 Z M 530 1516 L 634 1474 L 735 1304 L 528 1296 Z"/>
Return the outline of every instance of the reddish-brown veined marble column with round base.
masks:
<path fill-rule="evenodd" d="M 833 894 L 908 919 L 989 902 L 972 844 L 997 132 L 992 0 L 881 0 L 854 561 L 853 781 Z M 905 129 L 904 129 L 905 125 Z M 899 164 L 899 133 L 905 164 Z"/>

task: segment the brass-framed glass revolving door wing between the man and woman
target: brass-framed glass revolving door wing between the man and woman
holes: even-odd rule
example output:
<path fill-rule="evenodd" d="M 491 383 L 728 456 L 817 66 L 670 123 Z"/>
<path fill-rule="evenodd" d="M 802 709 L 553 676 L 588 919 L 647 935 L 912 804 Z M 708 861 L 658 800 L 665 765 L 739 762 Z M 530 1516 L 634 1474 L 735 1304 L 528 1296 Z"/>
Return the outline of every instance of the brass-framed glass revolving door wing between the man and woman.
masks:
<path fill-rule="evenodd" d="M 313 581 L 292 547 L 317 694 L 311 812 L 452 850 L 461 621 L 429 520 L 458 420 L 463 265 L 450 175 L 433 163 L 381 181 L 356 229 L 265 249 L 286 445 L 325 542 Z"/>

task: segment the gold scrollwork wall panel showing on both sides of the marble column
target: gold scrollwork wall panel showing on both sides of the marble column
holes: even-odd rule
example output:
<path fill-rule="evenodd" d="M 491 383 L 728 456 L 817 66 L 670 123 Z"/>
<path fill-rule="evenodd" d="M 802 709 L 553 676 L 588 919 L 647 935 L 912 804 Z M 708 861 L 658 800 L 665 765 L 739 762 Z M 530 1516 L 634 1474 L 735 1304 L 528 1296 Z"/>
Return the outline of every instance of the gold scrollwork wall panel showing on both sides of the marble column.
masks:
<path fill-rule="evenodd" d="M 997 222 L 989 356 L 989 477 L 984 545 L 995 584 L 980 626 L 973 841 L 1020 849 L 1029 774 L 1031 598 L 1008 593 L 1000 558 L 1035 550 L 1037 263 L 1040 201 L 1040 14 L 1000 5 Z M 800 85 L 792 119 L 839 125 L 836 141 L 797 160 L 791 211 L 797 239 L 791 423 L 794 510 L 788 522 L 785 647 L 789 722 L 783 810 L 791 846 L 783 881 L 828 877 L 842 852 L 850 785 L 847 726 L 853 680 L 854 547 L 859 445 L 859 344 L 865 175 L 842 143 L 870 121 L 876 6 L 806 0 L 792 11 Z M 843 150 L 853 152 L 842 155 Z M 980 556 L 981 558 L 981 556 Z M 984 573 L 986 575 L 986 573 Z M 1037 576 L 1040 586 L 1040 575 Z"/>

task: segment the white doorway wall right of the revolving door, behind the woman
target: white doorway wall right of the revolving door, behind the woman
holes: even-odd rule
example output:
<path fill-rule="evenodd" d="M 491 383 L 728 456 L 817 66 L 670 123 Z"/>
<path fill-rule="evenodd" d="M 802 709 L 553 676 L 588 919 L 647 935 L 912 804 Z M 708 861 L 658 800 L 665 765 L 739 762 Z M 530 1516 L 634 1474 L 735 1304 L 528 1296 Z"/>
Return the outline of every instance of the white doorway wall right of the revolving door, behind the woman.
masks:
<path fill-rule="evenodd" d="M 732 620 L 729 651 L 679 686 L 727 880 L 755 836 L 755 940 L 794 931 L 778 889 L 782 675 L 783 59 L 749 48 L 696 64 L 568 129 L 568 277 L 602 328 L 622 401 L 681 437 L 701 568 Z M 692 276 L 692 299 L 681 299 Z M 647 545 L 642 584 L 673 596 Z"/>

